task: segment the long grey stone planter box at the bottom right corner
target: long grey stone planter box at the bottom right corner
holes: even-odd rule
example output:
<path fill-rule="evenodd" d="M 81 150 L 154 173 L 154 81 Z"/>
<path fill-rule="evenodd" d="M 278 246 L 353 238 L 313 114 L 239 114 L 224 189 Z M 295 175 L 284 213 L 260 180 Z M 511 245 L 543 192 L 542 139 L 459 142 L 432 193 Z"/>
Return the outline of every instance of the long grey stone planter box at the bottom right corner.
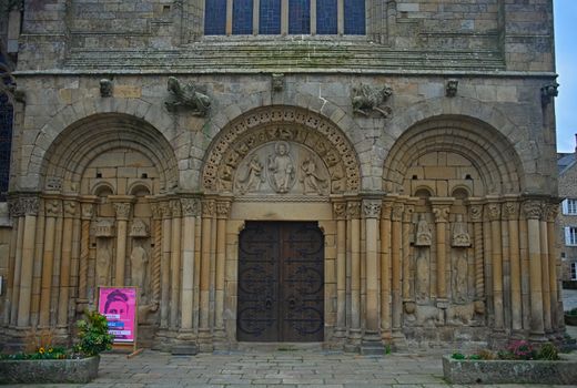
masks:
<path fill-rule="evenodd" d="M 574 385 L 577 360 L 460 360 L 443 356 L 443 375 L 451 384 Z"/>

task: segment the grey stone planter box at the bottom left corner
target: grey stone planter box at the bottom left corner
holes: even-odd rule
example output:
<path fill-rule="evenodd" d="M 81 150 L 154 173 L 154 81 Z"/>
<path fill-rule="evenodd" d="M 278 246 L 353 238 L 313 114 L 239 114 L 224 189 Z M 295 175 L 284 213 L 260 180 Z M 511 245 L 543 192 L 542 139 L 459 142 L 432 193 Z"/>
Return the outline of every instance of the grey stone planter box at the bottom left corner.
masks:
<path fill-rule="evenodd" d="M 83 359 L 0 360 L 0 384 L 89 382 L 100 357 Z"/>

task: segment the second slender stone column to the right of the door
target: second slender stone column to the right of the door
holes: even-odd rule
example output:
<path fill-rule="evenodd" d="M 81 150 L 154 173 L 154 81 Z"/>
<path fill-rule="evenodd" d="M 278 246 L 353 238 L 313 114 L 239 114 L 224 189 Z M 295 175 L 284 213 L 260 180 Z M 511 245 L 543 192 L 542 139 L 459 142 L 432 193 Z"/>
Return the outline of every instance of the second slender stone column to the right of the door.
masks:
<path fill-rule="evenodd" d="M 361 340 L 361 204 L 348 202 L 351 225 L 351 327 L 350 341 Z"/>

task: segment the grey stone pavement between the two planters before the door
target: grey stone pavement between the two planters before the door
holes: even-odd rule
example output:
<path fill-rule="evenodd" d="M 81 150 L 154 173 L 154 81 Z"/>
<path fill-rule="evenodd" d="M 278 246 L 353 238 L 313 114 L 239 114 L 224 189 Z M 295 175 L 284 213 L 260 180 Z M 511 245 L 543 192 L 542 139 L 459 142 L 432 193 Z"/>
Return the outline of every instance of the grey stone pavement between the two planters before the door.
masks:
<path fill-rule="evenodd" d="M 171 356 L 146 350 L 126 359 L 103 355 L 99 377 L 88 385 L 18 385 L 16 387 L 331 387 L 437 388 L 443 380 L 439 356 L 387 355 L 371 358 L 323 351 L 272 351 Z M 453 387 L 467 387 L 454 385 Z M 473 386 L 484 387 L 480 385 Z M 494 385 L 518 388 L 524 385 Z M 529 387 L 568 387 L 530 385 Z M 577 386 L 576 386 L 577 387 Z"/>

